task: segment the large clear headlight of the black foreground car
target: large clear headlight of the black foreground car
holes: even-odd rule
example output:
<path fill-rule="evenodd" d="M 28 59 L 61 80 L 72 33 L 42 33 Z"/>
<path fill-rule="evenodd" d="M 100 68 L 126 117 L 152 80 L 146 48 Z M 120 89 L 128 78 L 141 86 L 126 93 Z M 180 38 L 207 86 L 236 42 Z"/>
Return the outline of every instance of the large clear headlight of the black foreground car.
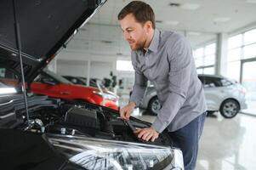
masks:
<path fill-rule="evenodd" d="M 184 169 L 182 152 L 170 147 L 47 134 L 69 161 L 94 170 Z"/>

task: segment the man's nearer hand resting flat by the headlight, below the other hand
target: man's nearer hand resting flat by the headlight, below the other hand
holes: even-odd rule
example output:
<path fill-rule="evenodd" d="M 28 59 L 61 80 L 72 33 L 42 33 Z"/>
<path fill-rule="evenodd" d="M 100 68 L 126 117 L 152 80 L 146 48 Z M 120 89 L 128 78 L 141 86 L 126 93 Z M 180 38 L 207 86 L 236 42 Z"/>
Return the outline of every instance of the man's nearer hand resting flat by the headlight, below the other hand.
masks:
<path fill-rule="evenodd" d="M 143 139 L 145 141 L 149 141 L 151 139 L 151 142 L 154 142 L 159 135 L 153 127 L 139 128 L 135 133 L 138 133 L 139 139 Z"/>

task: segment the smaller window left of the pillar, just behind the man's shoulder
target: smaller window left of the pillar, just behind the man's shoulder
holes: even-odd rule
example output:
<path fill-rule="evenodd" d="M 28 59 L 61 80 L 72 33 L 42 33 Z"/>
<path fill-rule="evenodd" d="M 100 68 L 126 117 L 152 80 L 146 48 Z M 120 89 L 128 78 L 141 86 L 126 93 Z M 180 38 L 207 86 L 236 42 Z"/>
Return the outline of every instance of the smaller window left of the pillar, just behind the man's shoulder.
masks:
<path fill-rule="evenodd" d="M 216 59 L 216 43 L 213 42 L 194 51 L 196 70 L 198 74 L 214 74 Z"/>

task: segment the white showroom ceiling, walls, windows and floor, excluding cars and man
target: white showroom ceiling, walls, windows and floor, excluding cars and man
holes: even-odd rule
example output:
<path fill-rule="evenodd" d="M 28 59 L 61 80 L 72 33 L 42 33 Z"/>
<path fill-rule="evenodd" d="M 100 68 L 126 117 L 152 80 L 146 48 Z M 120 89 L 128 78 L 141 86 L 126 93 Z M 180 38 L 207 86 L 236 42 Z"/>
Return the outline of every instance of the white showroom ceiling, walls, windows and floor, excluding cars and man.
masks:
<path fill-rule="evenodd" d="M 108 0 L 48 65 L 59 75 L 115 77 L 116 86 L 109 89 L 120 97 L 121 108 L 134 84 L 130 48 L 117 20 L 129 2 Z M 207 116 L 196 169 L 256 169 L 256 1 L 145 2 L 155 11 L 157 29 L 176 31 L 191 42 L 198 74 L 221 75 L 246 89 L 247 107 L 237 116 L 225 118 L 219 111 Z M 146 108 L 133 114 L 148 122 L 156 118 Z"/>

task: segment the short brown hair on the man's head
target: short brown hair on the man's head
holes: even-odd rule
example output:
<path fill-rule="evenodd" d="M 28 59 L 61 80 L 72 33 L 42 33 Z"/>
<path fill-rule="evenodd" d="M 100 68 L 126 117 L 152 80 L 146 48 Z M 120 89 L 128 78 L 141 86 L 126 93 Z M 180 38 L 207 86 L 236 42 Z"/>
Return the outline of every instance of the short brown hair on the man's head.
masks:
<path fill-rule="evenodd" d="M 118 20 L 122 20 L 128 14 L 134 14 L 135 20 L 137 20 L 142 25 L 144 25 L 145 22 L 149 20 L 152 22 L 153 29 L 156 28 L 155 14 L 149 4 L 141 1 L 133 1 L 128 3 L 128 5 L 122 8 L 118 14 Z"/>

